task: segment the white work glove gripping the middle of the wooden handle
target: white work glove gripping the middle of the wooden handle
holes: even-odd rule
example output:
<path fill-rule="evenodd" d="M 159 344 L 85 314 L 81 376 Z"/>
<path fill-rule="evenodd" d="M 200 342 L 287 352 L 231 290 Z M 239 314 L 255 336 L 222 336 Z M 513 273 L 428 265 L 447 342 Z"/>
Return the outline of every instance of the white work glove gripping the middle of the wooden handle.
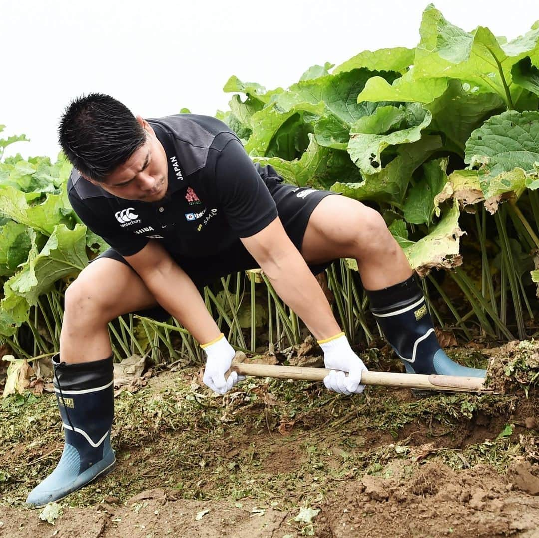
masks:
<path fill-rule="evenodd" d="M 324 365 L 331 370 L 324 378 L 326 388 L 341 394 L 361 394 L 365 388 L 365 385 L 360 385 L 361 374 L 368 370 L 350 347 L 344 333 L 318 340 L 318 343 L 324 352 Z"/>

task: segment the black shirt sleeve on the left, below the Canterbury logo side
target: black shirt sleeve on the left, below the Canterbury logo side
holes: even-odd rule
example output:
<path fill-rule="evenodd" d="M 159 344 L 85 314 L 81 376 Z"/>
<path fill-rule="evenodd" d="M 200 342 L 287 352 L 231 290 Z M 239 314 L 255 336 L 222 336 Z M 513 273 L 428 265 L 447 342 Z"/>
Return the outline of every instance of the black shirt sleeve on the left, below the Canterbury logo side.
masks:
<path fill-rule="evenodd" d="M 116 250 L 122 256 L 133 256 L 140 250 L 142 250 L 148 243 L 147 237 L 140 237 L 134 234 L 122 234 L 111 233 L 110 228 L 107 227 L 106 219 L 102 218 L 102 215 L 98 211 L 92 211 L 87 207 L 82 200 L 73 192 L 68 194 L 71 207 L 73 211 L 77 213 L 80 220 L 92 230 L 96 235 L 99 235 L 103 241 L 108 243 L 114 250 Z"/>

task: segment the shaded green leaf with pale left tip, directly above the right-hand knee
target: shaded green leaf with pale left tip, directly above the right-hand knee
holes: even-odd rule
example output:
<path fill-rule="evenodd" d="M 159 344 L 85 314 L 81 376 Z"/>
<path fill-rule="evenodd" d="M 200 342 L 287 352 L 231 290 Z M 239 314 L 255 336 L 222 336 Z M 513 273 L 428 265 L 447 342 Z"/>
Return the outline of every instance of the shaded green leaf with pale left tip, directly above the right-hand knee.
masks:
<path fill-rule="evenodd" d="M 397 157 L 380 172 L 363 174 L 360 183 L 337 182 L 330 190 L 355 200 L 385 201 L 400 207 L 413 171 L 440 148 L 439 136 L 423 136 L 417 142 L 402 144 L 397 149 Z"/>

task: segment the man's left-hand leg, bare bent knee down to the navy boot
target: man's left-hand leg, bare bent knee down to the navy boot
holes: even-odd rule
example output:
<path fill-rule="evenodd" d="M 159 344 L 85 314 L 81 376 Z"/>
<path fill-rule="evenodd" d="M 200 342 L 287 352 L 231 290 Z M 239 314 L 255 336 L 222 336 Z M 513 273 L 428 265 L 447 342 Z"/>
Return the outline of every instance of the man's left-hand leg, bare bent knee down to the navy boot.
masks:
<path fill-rule="evenodd" d="M 114 469 L 113 361 L 107 325 L 122 313 L 154 305 L 135 271 L 110 258 L 92 262 L 68 288 L 60 353 L 53 357 L 64 452 L 27 502 L 42 506 L 56 501 Z"/>

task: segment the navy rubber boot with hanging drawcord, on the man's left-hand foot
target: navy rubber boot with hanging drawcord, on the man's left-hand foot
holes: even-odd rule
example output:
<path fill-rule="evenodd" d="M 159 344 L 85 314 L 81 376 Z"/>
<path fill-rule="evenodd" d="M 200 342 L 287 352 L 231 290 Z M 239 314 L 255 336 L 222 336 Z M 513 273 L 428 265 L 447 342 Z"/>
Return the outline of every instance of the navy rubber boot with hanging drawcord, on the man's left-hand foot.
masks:
<path fill-rule="evenodd" d="M 26 502 L 43 506 L 105 476 L 116 458 L 110 446 L 114 418 L 112 357 L 66 364 L 52 359 L 54 390 L 64 423 L 65 446 L 58 466 L 35 487 Z"/>

